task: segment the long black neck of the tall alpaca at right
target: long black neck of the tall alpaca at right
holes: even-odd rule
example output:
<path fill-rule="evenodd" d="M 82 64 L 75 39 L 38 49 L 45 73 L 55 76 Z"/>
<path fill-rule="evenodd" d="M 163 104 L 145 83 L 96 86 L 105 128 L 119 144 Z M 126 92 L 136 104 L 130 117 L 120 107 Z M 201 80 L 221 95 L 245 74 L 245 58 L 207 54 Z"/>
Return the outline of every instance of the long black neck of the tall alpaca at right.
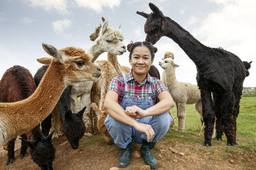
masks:
<path fill-rule="evenodd" d="M 166 17 L 166 19 L 168 26 L 165 36 L 176 42 L 186 55 L 195 62 L 195 65 L 200 66 L 204 62 L 208 62 L 205 53 L 209 51 L 209 47 L 196 40 L 189 32 L 178 25 L 178 23 L 175 23 L 175 21 L 169 19 L 169 17 Z M 202 58 L 202 56 L 206 57 Z"/>

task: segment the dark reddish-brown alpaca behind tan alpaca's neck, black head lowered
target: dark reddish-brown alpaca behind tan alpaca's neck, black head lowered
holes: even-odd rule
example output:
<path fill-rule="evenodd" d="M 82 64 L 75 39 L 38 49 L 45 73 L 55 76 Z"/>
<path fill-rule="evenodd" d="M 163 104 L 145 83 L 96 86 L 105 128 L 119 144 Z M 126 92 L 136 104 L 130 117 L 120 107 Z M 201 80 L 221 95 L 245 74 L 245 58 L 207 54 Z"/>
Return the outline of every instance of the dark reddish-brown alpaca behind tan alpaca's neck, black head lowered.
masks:
<path fill-rule="evenodd" d="M 0 101 L 9 103 L 21 101 L 32 95 L 34 93 L 34 90 L 36 90 L 36 84 L 30 71 L 28 71 L 28 69 L 25 69 L 23 66 L 12 66 L 6 71 L 6 73 L 3 74 L 3 77 L 1 79 Z M 41 143 L 41 145 L 30 146 L 30 154 L 32 160 L 36 162 L 39 167 L 52 167 L 52 162 L 55 157 L 55 149 L 52 145 L 51 138 L 49 140 L 45 139 L 45 136 L 41 132 L 39 125 L 36 125 L 36 127 L 34 127 L 29 132 L 22 134 L 21 138 L 28 138 L 30 141 L 37 141 L 38 143 Z M 10 163 L 12 164 L 12 162 L 14 162 L 15 160 L 15 140 L 16 137 L 12 138 L 12 140 L 8 142 L 8 160 L 6 162 L 6 165 L 9 165 Z M 25 141 L 21 141 L 21 159 L 25 156 L 28 156 L 28 153 L 26 151 L 27 147 L 28 143 Z"/>

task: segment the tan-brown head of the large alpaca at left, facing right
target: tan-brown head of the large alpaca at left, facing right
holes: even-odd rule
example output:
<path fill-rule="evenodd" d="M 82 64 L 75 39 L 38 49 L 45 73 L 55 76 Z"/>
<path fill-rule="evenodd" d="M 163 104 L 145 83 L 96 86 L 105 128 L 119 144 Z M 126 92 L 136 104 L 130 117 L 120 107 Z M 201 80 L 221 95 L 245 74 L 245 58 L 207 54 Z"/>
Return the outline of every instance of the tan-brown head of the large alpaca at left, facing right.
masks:
<path fill-rule="evenodd" d="M 66 86 L 84 81 L 95 81 L 100 77 L 100 68 L 93 64 L 91 57 L 75 47 L 66 47 L 57 50 L 52 45 L 42 44 L 43 49 L 54 58 L 37 59 L 41 64 L 51 64 L 54 62 L 58 65 L 58 71 L 61 71 Z"/>

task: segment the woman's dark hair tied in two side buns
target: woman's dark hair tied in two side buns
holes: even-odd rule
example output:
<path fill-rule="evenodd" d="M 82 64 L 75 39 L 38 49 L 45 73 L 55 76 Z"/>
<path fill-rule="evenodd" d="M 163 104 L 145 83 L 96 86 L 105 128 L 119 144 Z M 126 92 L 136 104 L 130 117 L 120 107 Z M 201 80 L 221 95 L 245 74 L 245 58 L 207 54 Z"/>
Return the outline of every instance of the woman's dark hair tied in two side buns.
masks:
<path fill-rule="evenodd" d="M 153 61 L 153 58 L 155 58 L 155 53 L 158 51 L 158 48 L 153 47 L 153 45 L 150 42 L 143 41 L 143 42 L 130 42 L 129 45 L 127 45 L 127 50 L 130 52 L 129 54 L 129 60 L 131 60 L 131 54 L 134 51 L 136 47 L 139 46 L 145 46 L 149 49 L 151 53 L 151 61 Z"/>

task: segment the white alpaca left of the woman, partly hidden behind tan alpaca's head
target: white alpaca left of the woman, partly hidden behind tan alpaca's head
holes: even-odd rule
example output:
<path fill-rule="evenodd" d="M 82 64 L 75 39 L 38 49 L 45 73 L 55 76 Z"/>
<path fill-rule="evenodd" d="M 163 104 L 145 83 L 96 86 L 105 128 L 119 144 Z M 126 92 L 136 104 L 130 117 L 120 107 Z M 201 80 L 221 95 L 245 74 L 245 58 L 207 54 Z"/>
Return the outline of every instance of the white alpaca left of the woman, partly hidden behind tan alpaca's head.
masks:
<path fill-rule="evenodd" d="M 122 55 L 125 53 L 125 45 L 123 44 L 123 35 L 120 32 L 120 26 L 118 29 L 108 27 L 109 23 L 105 21 L 102 27 L 100 27 L 100 33 L 98 38 L 96 38 L 94 45 L 89 48 L 87 53 L 91 55 L 92 62 L 100 56 L 101 53 L 108 52 L 114 55 Z M 92 115 L 90 115 L 91 108 L 91 90 L 94 82 L 81 82 L 79 84 L 73 84 L 70 93 L 71 110 L 77 112 L 86 106 L 85 114 L 83 116 L 83 121 L 85 123 L 86 132 L 94 132 Z M 78 102 L 78 97 L 81 97 L 80 103 Z M 89 135 L 89 134 L 88 134 Z"/>

